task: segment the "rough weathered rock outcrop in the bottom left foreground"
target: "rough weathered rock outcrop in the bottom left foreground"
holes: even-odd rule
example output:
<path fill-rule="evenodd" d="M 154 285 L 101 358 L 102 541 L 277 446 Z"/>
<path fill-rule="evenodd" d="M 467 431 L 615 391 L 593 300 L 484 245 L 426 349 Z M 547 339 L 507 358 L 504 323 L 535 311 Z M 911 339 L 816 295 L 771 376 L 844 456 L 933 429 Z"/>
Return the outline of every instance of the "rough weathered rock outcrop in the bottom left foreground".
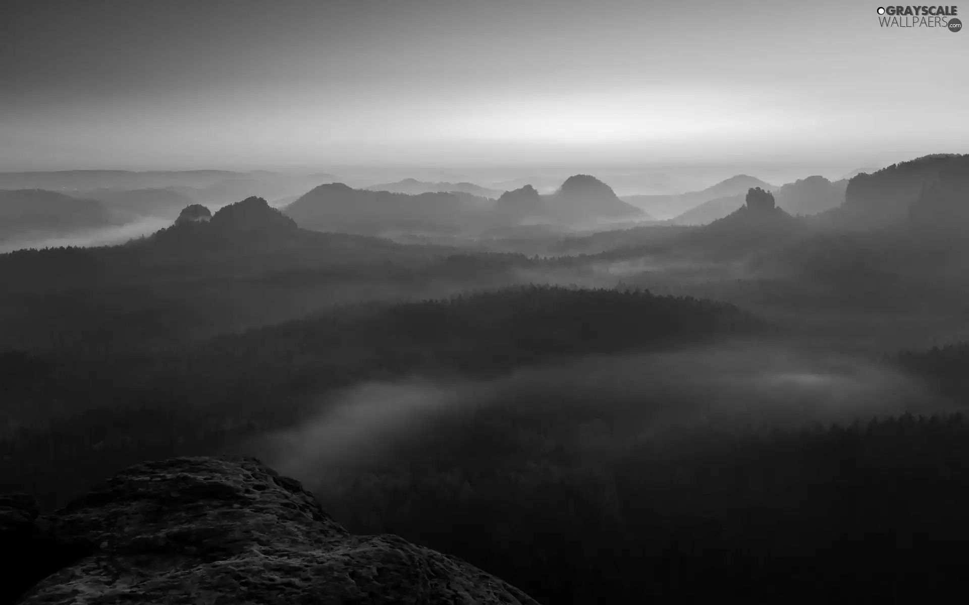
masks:
<path fill-rule="evenodd" d="M 41 544 L 22 573 L 51 572 L 19 603 L 536 603 L 395 535 L 348 533 L 252 458 L 144 463 L 51 517 L 6 505 L 5 531 Z"/>

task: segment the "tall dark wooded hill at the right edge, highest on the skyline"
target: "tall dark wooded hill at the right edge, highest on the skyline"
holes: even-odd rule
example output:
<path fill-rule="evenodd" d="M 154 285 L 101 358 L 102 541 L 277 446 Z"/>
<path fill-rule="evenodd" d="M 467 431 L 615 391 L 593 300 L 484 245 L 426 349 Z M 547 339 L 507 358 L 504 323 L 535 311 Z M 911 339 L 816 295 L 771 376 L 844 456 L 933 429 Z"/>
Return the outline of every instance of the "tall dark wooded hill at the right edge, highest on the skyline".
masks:
<path fill-rule="evenodd" d="M 904 221 L 924 188 L 940 171 L 958 165 L 957 154 L 936 154 L 893 164 L 871 174 L 858 174 L 848 182 L 843 208 L 829 218 L 846 227 L 885 227 Z"/>

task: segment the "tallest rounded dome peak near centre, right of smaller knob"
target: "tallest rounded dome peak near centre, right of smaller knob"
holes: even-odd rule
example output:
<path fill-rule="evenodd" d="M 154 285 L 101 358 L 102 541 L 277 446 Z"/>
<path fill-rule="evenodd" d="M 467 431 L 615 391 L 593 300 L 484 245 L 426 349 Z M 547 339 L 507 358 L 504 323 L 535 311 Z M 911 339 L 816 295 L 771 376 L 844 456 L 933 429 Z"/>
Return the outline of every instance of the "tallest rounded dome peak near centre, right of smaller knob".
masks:
<path fill-rule="evenodd" d="M 588 174 L 570 176 L 545 201 L 551 216 L 566 224 L 646 219 L 641 208 L 619 199 L 609 185 Z"/>

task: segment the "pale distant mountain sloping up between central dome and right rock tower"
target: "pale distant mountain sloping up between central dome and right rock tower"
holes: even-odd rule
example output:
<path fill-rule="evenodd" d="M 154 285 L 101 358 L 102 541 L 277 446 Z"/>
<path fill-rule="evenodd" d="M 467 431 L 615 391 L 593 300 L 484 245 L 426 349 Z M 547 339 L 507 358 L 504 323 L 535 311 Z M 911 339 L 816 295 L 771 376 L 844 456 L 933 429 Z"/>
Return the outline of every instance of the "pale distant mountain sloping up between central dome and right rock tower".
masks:
<path fill-rule="evenodd" d="M 736 208 L 739 208 L 743 203 L 743 196 L 752 187 L 760 187 L 767 191 L 776 189 L 773 185 L 765 183 L 759 178 L 746 174 L 737 174 L 702 191 L 688 192 L 675 196 L 625 196 L 622 199 L 627 203 L 642 208 L 659 220 L 675 220 L 689 210 L 699 207 L 701 204 L 720 199 L 721 201 L 712 204 L 706 210 L 698 210 L 695 215 L 692 215 L 696 218 L 687 219 L 693 222 L 682 223 L 682 225 L 698 225 L 714 220 L 712 218 L 707 220 L 708 217 L 717 214 L 718 211 L 714 210 L 714 208 L 731 208 L 731 210 L 724 214 L 719 214 L 716 218 L 722 218 L 730 212 L 733 212 Z M 736 199 L 726 201 L 725 198 L 736 198 L 739 202 L 735 203 Z"/>

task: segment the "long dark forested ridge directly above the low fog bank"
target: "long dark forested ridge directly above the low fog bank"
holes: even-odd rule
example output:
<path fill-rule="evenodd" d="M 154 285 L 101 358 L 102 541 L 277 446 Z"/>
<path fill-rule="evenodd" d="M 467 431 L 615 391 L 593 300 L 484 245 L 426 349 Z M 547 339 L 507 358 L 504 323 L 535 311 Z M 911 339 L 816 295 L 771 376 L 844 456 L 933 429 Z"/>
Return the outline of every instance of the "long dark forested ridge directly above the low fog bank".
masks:
<path fill-rule="evenodd" d="M 201 346 L 8 351 L 0 354 L 8 414 L 0 492 L 29 488 L 48 505 L 63 502 L 122 462 L 212 452 L 292 426 L 316 409 L 319 395 L 362 380 L 486 378 L 528 364 L 760 329 L 726 304 L 644 291 L 514 287 L 352 305 Z"/>

